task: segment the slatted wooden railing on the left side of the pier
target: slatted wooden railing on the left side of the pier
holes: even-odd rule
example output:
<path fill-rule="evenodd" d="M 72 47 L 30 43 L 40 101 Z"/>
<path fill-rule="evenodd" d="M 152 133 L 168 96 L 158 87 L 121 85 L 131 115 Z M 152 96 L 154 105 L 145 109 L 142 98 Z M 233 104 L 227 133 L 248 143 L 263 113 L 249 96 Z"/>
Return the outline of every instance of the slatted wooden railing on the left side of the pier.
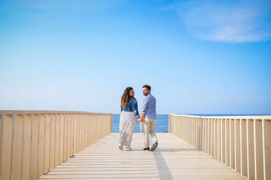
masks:
<path fill-rule="evenodd" d="M 113 116 L 0 111 L 1 180 L 34 180 L 112 132 Z"/>

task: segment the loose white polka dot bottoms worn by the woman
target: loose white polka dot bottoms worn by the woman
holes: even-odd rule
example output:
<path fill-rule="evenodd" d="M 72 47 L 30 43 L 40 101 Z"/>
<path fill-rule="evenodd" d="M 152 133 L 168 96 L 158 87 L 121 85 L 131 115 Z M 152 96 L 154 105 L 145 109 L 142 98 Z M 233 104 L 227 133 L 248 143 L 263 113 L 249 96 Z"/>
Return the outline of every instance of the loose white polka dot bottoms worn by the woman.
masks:
<path fill-rule="evenodd" d="M 133 131 L 136 127 L 136 116 L 133 112 L 122 111 L 120 113 L 120 138 L 119 144 L 129 148 L 132 142 Z"/>

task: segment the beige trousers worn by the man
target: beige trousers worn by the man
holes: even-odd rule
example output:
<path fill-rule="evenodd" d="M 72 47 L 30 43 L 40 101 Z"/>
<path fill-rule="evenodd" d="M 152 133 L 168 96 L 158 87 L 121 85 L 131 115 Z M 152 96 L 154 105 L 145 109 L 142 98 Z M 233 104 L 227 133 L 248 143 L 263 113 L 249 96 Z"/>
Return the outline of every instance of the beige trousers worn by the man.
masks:
<path fill-rule="evenodd" d="M 156 124 L 156 119 L 144 118 L 143 129 L 144 129 L 145 148 L 148 148 L 150 146 L 149 134 L 151 134 L 151 139 L 152 139 L 153 144 L 158 143 L 156 134 L 154 132 L 155 124 Z"/>

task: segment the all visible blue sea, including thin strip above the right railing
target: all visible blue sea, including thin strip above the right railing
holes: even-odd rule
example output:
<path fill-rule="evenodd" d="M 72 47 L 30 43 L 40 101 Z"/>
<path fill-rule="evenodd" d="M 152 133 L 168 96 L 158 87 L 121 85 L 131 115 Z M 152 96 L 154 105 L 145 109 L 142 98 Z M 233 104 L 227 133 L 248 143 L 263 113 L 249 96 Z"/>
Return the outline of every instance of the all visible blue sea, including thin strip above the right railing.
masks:
<path fill-rule="evenodd" d="M 187 114 L 194 116 L 259 116 L 263 114 Z M 139 133 L 139 121 L 136 123 L 134 133 Z M 113 114 L 113 133 L 119 133 L 120 114 Z M 143 132 L 142 126 L 142 132 Z M 168 114 L 157 114 L 157 121 L 154 128 L 157 133 L 168 133 Z"/>

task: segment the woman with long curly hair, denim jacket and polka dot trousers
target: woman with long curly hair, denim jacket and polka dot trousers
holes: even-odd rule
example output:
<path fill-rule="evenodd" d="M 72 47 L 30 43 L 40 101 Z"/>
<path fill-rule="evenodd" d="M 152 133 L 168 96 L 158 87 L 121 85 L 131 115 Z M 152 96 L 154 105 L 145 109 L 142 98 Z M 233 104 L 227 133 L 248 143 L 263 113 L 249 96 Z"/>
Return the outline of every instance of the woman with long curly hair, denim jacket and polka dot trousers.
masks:
<path fill-rule="evenodd" d="M 137 109 L 137 100 L 134 97 L 135 91 L 132 87 L 127 87 L 120 99 L 120 138 L 119 149 L 123 149 L 126 146 L 127 151 L 131 151 L 131 141 L 133 131 L 136 127 L 136 118 L 140 119 L 140 115 Z"/>

